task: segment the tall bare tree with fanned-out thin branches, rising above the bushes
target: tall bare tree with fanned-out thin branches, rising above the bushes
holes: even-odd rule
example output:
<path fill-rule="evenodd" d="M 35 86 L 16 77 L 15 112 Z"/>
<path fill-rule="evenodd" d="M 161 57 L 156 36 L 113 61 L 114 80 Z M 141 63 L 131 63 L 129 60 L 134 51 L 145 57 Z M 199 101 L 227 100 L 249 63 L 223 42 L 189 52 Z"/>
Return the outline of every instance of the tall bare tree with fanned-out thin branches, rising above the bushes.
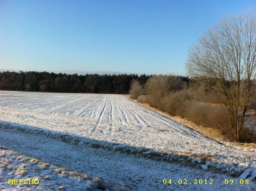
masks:
<path fill-rule="evenodd" d="M 214 78 L 235 140 L 243 127 L 256 75 L 256 17 L 253 12 L 223 18 L 190 48 L 188 75 Z"/>

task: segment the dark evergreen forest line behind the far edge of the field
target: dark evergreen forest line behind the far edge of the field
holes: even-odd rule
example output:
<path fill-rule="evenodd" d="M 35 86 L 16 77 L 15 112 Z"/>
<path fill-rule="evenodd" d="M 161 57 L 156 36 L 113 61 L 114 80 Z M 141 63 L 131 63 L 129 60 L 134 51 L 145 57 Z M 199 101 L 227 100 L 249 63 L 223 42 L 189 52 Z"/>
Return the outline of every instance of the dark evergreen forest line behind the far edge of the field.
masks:
<path fill-rule="evenodd" d="M 0 72 L 0 90 L 65 93 L 128 94 L 132 80 L 144 85 L 149 75 L 62 74 L 37 71 Z"/>

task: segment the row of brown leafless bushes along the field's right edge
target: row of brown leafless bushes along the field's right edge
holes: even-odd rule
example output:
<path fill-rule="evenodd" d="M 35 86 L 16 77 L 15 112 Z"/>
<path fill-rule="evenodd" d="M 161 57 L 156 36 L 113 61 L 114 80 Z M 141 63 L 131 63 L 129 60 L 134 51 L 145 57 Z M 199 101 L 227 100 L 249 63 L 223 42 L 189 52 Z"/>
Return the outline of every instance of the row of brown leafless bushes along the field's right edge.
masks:
<path fill-rule="evenodd" d="M 223 99 L 224 95 L 219 93 L 221 86 L 216 79 L 197 77 L 190 79 L 188 86 L 189 89 L 180 77 L 155 75 L 145 84 L 146 95 L 139 96 L 137 101 L 143 103 L 145 107 L 152 106 L 173 116 L 180 116 L 203 127 L 209 127 L 204 128 L 204 132 L 211 137 L 235 140 L 229 123 L 229 110 L 219 99 Z M 248 108 L 256 111 L 256 99 L 253 95 L 251 93 L 252 98 Z M 246 115 L 249 114 L 247 112 Z M 240 141 L 256 142 L 255 131 L 244 128 L 241 131 Z"/>

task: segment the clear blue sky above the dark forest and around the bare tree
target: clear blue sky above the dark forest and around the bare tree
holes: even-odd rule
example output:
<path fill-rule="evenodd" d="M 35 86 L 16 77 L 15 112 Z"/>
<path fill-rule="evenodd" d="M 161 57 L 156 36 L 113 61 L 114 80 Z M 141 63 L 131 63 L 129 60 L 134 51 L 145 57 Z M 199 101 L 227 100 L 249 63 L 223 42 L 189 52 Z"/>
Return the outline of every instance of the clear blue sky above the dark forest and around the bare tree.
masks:
<path fill-rule="evenodd" d="M 255 0 L 0 0 L 0 69 L 185 75 L 188 48 Z"/>

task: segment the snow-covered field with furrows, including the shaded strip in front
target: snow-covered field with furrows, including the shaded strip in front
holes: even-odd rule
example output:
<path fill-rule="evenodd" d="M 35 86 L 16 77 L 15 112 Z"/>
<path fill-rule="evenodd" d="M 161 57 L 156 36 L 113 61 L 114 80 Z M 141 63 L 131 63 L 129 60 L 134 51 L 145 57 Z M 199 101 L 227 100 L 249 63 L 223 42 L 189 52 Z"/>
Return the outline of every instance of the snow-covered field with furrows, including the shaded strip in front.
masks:
<path fill-rule="evenodd" d="M 63 133 L 69 136 L 68 140 L 63 138 Z M 256 168 L 256 149 L 211 140 L 122 95 L 0 91 L 0 137 L 0 145 L 22 154 L 96 174 L 128 189 L 255 188 L 255 182 L 247 187 L 222 187 L 225 177 L 231 177 L 214 169 L 219 164 L 219 168 L 226 168 L 224 172 L 234 176 L 247 168 Z M 81 144 L 86 141 L 94 142 L 94 146 Z M 119 145 L 134 146 L 138 154 L 127 155 L 125 150 L 116 150 Z M 184 166 L 168 162 L 173 155 L 167 155 L 166 162 L 147 159 L 145 157 L 152 158 L 152 155 L 146 155 L 145 149 L 149 153 L 154 150 L 156 154 L 175 156 L 209 155 L 211 159 L 206 163 L 201 163 L 200 157 L 190 159 Z M 193 161 L 203 169 L 188 167 L 193 166 Z M 176 187 L 162 184 L 163 178 L 194 180 L 200 177 L 212 177 L 216 184 Z"/>

